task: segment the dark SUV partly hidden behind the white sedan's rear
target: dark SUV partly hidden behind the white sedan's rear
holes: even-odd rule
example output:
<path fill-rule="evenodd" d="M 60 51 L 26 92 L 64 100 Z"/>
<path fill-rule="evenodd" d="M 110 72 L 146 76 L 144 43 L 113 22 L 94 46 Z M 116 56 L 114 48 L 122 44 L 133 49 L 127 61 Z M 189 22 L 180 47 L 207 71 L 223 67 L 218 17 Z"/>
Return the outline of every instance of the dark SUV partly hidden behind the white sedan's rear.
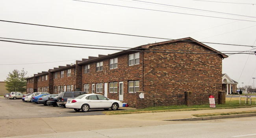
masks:
<path fill-rule="evenodd" d="M 82 94 L 86 94 L 84 91 L 70 91 L 70 92 L 61 92 L 57 98 L 57 104 L 63 105 L 66 107 L 65 104 L 67 103 L 68 98 L 76 98 Z"/>

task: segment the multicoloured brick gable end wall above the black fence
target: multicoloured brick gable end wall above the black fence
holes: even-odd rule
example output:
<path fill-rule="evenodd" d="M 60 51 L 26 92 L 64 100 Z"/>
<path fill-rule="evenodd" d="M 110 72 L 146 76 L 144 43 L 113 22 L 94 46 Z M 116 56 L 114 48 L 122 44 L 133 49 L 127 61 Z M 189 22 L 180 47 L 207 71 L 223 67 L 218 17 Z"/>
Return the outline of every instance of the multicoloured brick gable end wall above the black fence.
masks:
<path fill-rule="evenodd" d="M 184 52 L 189 52 L 186 50 L 209 50 L 189 42 L 176 42 L 154 48 L 173 49 L 178 50 L 175 52 L 181 53 L 145 52 L 145 93 L 184 94 L 185 91 L 202 93 L 221 90 L 221 56 L 217 54 L 186 54 Z"/>

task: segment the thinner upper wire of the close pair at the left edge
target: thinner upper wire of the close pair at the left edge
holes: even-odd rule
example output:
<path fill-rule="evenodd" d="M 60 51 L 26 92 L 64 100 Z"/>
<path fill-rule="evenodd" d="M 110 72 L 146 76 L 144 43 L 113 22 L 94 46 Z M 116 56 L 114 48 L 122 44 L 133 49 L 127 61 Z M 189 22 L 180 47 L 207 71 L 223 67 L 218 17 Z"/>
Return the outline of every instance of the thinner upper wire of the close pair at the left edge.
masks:
<path fill-rule="evenodd" d="M 115 47 L 115 46 L 105 46 L 105 45 L 88 45 L 88 44 L 73 44 L 73 43 L 61 43 L 61 42 L 49 42 L 49 41 L 39 41 L 39 40 L 26 40 L 26 39 L 16 39 L 16 38 L 4 38 L 2 39 L 9 39 L 9 40 L 22 40 L 22 41 L 31 41 L 31 42 L 44 42 L 44 43 L 55 43 L 55 44 L 69 44 L 69 45 L 85 45 L 85 46 L 95 46 L 95 47 L 112 47 L 112 48 L 128 48 L 130 47 Z M 147 48 L 136 48 L 136 49 L 147 49 Z M 181 50 L 174 50 L 174 49 L 153 49 L 153 50 L 169 50 L 169 51 L 181 51 Z M 199 50 L 182 50 L 182 51 L 195 51 L 195 52 L 212 52 L 211 51 L 199 51 Z M 245 52 L 245 51 L 219 51 L 219 52 Z"/>

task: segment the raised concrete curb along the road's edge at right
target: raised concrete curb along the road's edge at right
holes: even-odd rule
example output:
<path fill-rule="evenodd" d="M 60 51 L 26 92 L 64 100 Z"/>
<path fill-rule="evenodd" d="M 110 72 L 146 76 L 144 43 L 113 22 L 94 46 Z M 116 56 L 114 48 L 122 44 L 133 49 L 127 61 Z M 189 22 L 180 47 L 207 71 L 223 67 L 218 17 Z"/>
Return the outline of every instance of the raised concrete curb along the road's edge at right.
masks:
<path fill-rule="evenodd" d="M 256 113 L 249 114 L 231 114 L 231 115 L 221 115 L 221 116 L 204 116 L 197 118 L 184 118 L 184 119 L 172 119 L 163 121 L 200 121 L 200 120 L 214 120 L 214 119 L 225 119 L 225 118 L 240 118 L 240 117 L 251 117 L 256 116 Z"/>

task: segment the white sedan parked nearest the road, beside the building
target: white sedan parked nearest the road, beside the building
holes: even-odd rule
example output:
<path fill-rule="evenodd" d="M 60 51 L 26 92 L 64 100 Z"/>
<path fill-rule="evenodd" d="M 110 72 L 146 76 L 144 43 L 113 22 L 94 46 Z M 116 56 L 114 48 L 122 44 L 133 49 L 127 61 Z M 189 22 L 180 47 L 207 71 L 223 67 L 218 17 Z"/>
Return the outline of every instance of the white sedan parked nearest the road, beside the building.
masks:
<path fill-rule="evenodd" d="M 100 94 L 83 94 L 74 99 L 67 99 L 67 108 L 72 108 L 75 111 L 82 110 L 88 112 L 89 109 L 105 109 L 117 110 L 122 107 L 122 103 L 118 100 L 110 100 Z"/>

